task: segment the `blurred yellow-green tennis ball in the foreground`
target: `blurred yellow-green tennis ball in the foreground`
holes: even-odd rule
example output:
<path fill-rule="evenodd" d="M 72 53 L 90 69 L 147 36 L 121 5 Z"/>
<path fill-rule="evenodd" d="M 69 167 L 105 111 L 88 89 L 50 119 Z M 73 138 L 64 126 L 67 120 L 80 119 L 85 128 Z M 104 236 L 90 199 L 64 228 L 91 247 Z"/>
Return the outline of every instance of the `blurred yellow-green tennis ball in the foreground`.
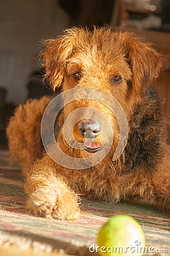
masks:
<path fill-rule="evenodd" d="M 145 247 L 145 236 L 141 225 L 127 215 L 116 215 L 109 219 L 97 237 L 101 256 L 141 256 Z"/>

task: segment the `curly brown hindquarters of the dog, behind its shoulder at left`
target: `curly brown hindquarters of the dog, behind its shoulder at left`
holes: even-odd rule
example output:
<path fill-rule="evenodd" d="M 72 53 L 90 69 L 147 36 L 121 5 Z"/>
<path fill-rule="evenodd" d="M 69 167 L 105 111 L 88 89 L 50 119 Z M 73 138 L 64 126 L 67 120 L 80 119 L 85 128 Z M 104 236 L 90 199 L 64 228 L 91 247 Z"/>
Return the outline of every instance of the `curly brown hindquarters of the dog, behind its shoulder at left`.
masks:
<path fill-rule="evenodd" d="M 29 168 L 36 159 L 42 158 L 41 119 L 50 102 L 49 97 L 29 100 L 16 108 L 7 127 L 8 147 L 23 168 Z M 22 124 L 22 125 L 21 125 Z"/>

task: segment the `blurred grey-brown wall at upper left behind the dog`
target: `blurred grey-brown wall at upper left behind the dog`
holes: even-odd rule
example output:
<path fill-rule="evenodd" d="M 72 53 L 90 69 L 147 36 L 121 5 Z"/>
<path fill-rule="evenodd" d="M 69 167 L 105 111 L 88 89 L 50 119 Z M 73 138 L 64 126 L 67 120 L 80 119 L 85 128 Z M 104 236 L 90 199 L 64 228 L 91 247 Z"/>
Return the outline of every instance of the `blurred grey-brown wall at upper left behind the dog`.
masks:
<path fill-rule="evenodd" d="M 39 40 L 56 36 L 69 22 L 56 0 L 1 1 L 0 86 L 8 90 L 8 102 L 25 101 L 28 75 L 40 66 Z"/>

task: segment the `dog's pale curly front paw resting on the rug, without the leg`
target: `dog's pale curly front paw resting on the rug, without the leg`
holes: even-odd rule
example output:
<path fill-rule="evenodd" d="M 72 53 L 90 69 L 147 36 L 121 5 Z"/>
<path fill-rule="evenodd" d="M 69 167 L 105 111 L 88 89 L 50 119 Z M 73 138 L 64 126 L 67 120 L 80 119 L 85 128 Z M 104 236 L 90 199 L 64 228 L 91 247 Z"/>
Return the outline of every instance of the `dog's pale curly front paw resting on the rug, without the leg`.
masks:
<path fill-rule="evenodd" d="M 28 207 L 36 216 L 58 220 L 75 220 L 80 213 L 79 197 L 68 187 L 59 191 L 54 185 L 33 192 Z"/>

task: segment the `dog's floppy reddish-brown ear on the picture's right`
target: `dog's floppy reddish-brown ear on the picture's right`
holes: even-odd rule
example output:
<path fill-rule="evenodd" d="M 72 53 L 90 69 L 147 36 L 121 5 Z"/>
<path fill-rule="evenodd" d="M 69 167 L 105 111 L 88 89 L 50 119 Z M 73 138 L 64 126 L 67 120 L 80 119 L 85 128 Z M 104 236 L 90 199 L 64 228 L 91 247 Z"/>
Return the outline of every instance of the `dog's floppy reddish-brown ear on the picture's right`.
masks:
<path fill-rule="evenodd" d="M 126 55 L 133 75 L 133 92 L 140 100 L 152 82 L 159 76 L 162 68 L 162 56 L 154 45 L 131 33 L 123 34 Z"/>

